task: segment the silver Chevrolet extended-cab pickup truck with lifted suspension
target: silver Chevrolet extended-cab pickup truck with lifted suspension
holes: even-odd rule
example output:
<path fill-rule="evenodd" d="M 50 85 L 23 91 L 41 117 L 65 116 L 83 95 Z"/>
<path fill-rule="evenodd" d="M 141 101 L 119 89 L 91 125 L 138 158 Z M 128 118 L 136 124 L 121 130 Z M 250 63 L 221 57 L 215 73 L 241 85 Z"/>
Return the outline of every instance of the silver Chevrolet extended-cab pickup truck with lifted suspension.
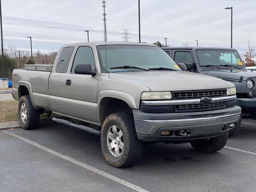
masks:
<path fill-rule="evenodd" d="M 68 44 L 53 66 L 26 67 L 12 74 L 22 128 L 36 128 L 40 114 L 59 114 L 52 120 L 99 134 L 115 167 L 138 161 L 145 142 L 216 152 L 240 118 L 234 84 L 183 72 L 152 44 Z"/>

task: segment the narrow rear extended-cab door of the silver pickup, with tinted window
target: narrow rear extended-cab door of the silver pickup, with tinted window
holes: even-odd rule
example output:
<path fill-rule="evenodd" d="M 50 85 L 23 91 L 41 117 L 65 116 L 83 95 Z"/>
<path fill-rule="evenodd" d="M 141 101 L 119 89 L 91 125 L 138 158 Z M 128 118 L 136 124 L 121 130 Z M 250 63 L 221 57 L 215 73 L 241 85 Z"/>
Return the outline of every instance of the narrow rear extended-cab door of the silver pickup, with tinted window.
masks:
<path fill-rule="evenodd" d="M 65 81 L 68 64 L 74 50 L 73 46 L 61 50 L 58 61 L 54 63 L 54 69 L 50 75 L 49 93 L 50 105 L 53 112 L 66 115 Z"/>

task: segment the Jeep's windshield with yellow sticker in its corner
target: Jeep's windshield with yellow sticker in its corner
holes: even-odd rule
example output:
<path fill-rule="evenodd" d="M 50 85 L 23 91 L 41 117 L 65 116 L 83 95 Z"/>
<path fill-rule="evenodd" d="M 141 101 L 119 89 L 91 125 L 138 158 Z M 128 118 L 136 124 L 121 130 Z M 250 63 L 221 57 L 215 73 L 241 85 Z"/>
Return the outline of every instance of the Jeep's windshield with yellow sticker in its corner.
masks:
<path fill-rule="evenodd" d="M 236 50 L 203 49 L 196 50 L 196 56 L 200 66 L 224 66 L 244 67 Z"/>

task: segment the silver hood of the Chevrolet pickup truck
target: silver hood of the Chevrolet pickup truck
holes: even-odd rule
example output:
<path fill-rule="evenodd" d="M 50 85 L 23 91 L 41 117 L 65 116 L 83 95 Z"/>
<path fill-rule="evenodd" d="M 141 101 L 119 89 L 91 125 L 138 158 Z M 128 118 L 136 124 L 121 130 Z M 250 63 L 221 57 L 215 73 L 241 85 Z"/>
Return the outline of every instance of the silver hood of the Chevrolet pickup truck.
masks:
<path fill-rule="evenodd" d="M 140 71 L 110 73 L 109 78 L 142 84 L 151 91 L 207 90 L 234 87 L 220 78 L 184 71 Z"/>

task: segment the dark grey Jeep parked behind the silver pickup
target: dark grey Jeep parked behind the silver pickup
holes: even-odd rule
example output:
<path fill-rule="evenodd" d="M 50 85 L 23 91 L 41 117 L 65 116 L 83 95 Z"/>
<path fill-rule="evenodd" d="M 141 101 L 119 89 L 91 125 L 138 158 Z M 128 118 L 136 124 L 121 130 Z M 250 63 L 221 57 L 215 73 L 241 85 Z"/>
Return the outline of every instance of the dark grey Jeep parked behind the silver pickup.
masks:
<path fill-rule="evenodd" d="M 163 50 L 183 70 L 206 74 L 232 82 L 236 86 L 236 105 L 242 108 L 243 118 L 256 117 L 256 71 L 246 70 L 237 50 L 230 48 L 174 47 Z M 183 65 L 182 65 L 183 64 Z M 230 130 L 236 134 L 241 126 Z"/>

